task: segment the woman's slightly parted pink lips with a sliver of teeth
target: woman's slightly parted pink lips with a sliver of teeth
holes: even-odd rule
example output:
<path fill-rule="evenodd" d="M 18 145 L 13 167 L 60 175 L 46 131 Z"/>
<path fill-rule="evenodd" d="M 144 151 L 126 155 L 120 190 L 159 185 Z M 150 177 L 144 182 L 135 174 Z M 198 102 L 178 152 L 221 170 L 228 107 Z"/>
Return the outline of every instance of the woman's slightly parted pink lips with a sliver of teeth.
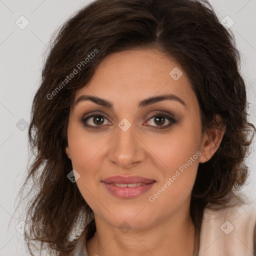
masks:
<path fill-rule="evenodd" d="M 130 199 L 148 191 L 156 181 L 140 176 L 111 176 L 101 182 L 112 195 Z"/>

